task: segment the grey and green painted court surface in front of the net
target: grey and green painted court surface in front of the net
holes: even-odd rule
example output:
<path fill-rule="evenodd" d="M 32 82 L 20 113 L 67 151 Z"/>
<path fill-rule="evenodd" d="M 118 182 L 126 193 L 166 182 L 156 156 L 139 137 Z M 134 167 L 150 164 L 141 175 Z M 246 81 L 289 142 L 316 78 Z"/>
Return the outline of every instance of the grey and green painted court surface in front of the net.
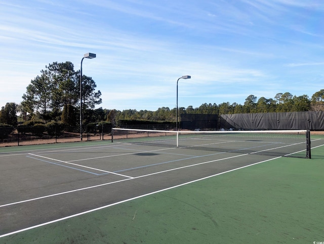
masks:
<path fill-rule="evenodd" d="M 312 140 L 312 159 L 114 143 L 9 148 L 0 243 L 324 241 L 324 137 Z"/>

